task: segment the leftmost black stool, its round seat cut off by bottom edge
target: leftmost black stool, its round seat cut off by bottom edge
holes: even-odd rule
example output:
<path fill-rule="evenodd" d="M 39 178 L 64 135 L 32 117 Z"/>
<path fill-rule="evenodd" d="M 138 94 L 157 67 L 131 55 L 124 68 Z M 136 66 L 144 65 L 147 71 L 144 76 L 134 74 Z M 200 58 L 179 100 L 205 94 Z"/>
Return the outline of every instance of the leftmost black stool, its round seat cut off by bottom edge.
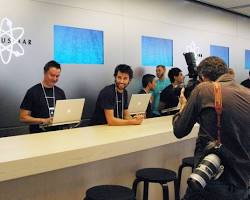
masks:
<path fill-rule="evenodd" d="M 89 188 L 84 200 L 135 200 L 130 188 L 120 185 L 98 185 Z"/>

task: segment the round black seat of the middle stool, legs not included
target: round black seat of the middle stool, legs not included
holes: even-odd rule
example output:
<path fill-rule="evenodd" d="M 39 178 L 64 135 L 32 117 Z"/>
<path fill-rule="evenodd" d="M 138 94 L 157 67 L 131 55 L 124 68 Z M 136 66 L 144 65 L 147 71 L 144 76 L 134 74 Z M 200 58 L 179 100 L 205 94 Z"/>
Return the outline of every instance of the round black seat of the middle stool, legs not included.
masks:
<path fill-rule="evenodd" d="M 164 168 L 144 168 L 136 172 L 136 178 L 141 181 L 164 184 L 177 179 L 177 176 L 174 171 Z"/>

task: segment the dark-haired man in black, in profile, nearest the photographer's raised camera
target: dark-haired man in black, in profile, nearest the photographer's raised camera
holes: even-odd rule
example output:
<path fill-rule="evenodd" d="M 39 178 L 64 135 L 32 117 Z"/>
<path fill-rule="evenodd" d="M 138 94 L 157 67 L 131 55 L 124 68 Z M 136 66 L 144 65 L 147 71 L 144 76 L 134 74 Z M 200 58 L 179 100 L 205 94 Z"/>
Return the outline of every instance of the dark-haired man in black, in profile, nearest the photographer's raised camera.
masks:
<path fill-rule="evenodd" d="M 169 70 L 168 77 L 171 84 L 161 92 L 159 110 L 176 107 L 179 103 L 179 96 L 181 92 L 180 86 L 184 81 L 182 71 L 179 68 L 174 67 Z"/>

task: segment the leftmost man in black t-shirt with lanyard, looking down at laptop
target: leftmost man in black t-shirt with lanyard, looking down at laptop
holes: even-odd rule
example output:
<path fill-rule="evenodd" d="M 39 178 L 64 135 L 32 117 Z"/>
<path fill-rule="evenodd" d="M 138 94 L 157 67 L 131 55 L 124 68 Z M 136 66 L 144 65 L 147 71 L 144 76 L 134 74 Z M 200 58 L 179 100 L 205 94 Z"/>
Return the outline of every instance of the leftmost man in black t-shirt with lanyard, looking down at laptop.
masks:
<path fill-rule="evenodd" d="M 55 86 L 61 73 L 61 66 L 50 61 L 44 66 L 41 83 L 31 87 L 20 105 L 20 121 L 30 125 L 30 133 L 57 130 L 58 127 L 41 129 L 39 125 L 51 123 L 56 100 L 66 99 L 64 91 Z"/>

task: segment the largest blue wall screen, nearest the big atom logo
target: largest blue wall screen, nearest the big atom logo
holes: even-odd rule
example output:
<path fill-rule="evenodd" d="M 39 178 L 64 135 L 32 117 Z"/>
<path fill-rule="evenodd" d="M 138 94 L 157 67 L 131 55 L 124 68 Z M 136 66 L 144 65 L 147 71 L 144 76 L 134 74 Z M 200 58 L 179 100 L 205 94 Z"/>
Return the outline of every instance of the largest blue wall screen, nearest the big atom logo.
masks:
<path fill-rule="evenodd" d="M 62 64 L 104 64 L 103 31 L 54 25 L 54 59 Z"/>

